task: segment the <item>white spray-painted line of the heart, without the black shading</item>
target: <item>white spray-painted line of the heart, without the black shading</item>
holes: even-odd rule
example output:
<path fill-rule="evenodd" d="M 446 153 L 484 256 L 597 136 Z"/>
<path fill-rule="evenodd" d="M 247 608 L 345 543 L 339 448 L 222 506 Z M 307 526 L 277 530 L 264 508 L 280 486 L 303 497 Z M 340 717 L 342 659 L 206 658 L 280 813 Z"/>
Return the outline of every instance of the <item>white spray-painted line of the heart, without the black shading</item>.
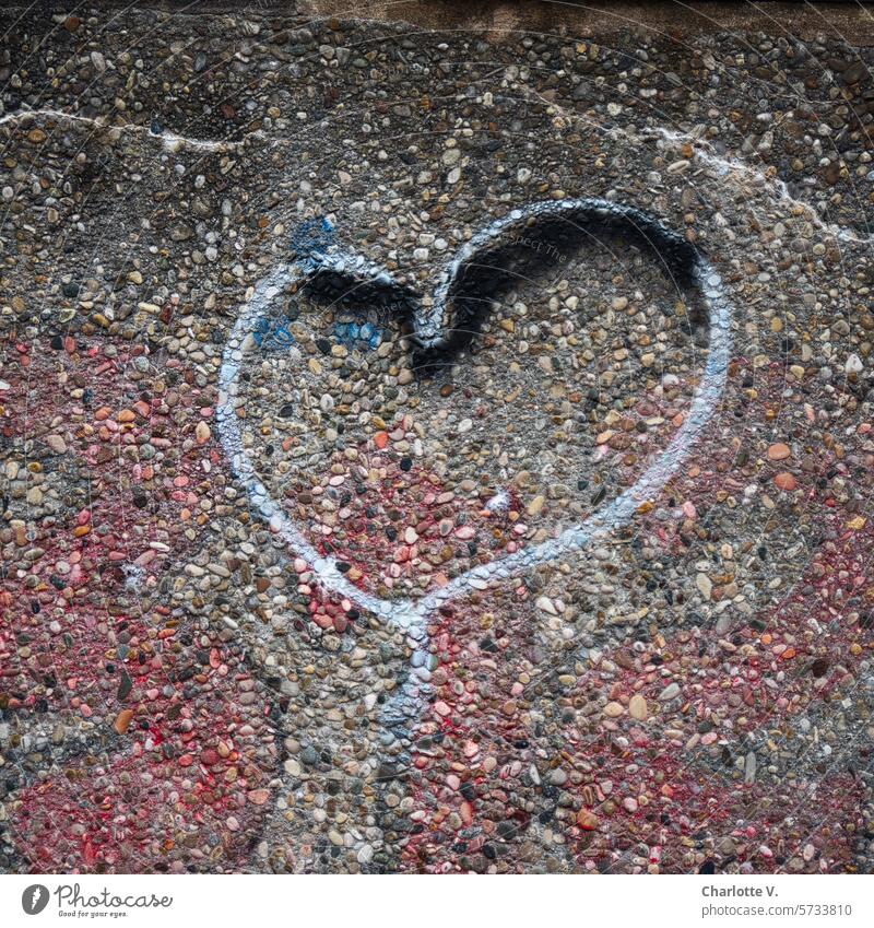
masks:
<path fill-rule="evenodd" d="M 683 242 L 676 233 L 669 230 L 654 216 L 637 208 L 619 205 L 599 198 L 547 201 L 532 203 L 524 209 L 512 210 L 507 216 L 492 223 L 471 238 L 447 265 L 435 292 L 430 318 L 421 324 L 416 331 L 417 337 L 425 343 L 434 343 L 439 338 L 444 310 L 450 298 L 452 285 L 464 263 L 476 254 L 477 249 L 498 238 L 508 227 L 523 224 L 531 218 L 543 218 L 544 215 L 566 218 L 568 213 L 621 219 L 631 223 L 637 232 L 640 232 L 640 224 L 642 223 L 646 228 L 657 230 L 664 240 Z M 393 283 L 391 277 L 385 270 L 365 261 L 357 255 L 336 249 L 330 252 L 318 252 L 315 255 L 315 259 L 310 257 L 304 262 L 281 265 L 261 280 L 256 285 L 248 305 L 237 317 L 222 355 L 222 366 L 218 374 L 218 402 L 215 411 L 220 440 L 228 456 L 235 477 L 244 484 L 255 508 L 271 531 L 283 539 L 290 551 L 310 566 L 319 585 L 329 592 L 338 594 L 359 608 L 380 615 L 385 621 L 393 623 L 418 642 L 424 638 L 424 623 L 427 615 L 456 596 L 469 590 L 471 580 L 475 579 L 487 584 L 493 579 L 506 579 L 516 576 L 538 564 L 579 551 L 594 539 L 607 535 L 627 522 L 637 508 L 656 496 L 680 469 L 693 444 L 712 418 L 725 388 L 732 343 L 732 307 L 725 295 L 720 275 L 713 270 L 709 261 L 695 250 L 690 273 L 693 283 L 701 293 L 707 308 L 710 330 L 707 363 L 701 381 L 693 397 L 690 409 L 668 447 L 656 457 L 630 488 L 623 491 L 606 506 L 592 513 L 579 525 L 565 529 L 557 538 L 543 541 L 533 548 L 527 548 L 513 554 L 497 557 L 488 564 L 472 567 L 421 600 L 387 601 L 356 587 L 338 569 L 334 562 L 322 557 L 304 538 L 258 478 L 243 447 L 243 439 L 237 427 L 235 412 L 235 400 L 239 396 L 237 377 L 246 350 L 247 338 L 250 337 L 255 325 L 283 290 L 306 279 L 308 273 L 316 268 L 329 268 L 335 271 L 355 270 L 370 280 L 388 284 Z"/>

